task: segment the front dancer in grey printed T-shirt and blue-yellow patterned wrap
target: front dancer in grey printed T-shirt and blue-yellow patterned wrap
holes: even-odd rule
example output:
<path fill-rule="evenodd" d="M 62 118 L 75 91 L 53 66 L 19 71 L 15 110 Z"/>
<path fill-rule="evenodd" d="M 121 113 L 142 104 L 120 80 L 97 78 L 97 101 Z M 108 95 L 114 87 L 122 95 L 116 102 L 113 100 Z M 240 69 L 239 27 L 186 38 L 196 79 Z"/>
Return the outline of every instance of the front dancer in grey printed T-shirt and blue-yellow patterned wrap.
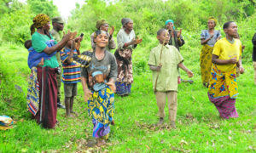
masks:
<path fill-rule="evenodd" d="M 81 69 L 84 101 L 88 102 L 88 113 L 92 118 L 93 134 L 97 144 L 105 144 L 114 114 L 114 82 L 117 64 L 113 54 L 107 51 L 108 33 L 97 30 L 94 33 L 95 50 L 91 53 L 90 65 Z"/>

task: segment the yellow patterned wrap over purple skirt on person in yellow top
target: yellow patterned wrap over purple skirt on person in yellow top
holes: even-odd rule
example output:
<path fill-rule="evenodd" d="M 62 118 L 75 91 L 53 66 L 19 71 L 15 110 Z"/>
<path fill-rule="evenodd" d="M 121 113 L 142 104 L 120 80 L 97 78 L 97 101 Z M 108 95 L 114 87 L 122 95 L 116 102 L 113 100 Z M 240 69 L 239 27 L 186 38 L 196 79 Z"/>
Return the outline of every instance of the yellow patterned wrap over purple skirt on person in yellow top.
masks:
<path fill-rule="evenodd" d="M 210 101 L 224 119 L 238 117 L 235 106 L 238 95 L 236 68 L 232 71 L 222 72 L 218 71 L 217 65 L 212 65 L 211 74 L 212 80 L 208 90 Z"/>

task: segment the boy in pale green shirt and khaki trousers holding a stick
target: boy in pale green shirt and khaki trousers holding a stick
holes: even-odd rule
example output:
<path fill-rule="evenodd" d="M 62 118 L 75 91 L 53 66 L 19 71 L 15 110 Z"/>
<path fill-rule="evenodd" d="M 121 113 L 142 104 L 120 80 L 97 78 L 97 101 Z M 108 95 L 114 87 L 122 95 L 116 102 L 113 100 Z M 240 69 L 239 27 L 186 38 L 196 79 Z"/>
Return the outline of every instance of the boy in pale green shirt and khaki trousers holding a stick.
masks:
<path fill-rule="evenodd" d="M 163 124 L 165 117 L 166 96 L 168 98 L 169 120 L 171 127 L 176 128 L 177 115 L 177 66 L 186 71 L 189 77 L 193 77 L 192 71 L 183 65 L 183 57 L 177 48 L 168 45 L 170 35 L 166 29 L 157 31 L 157 39 L 160 44 L 151 50 L 148 59 L 150 70 L 153 71 L 154 94 L 159 108 L 160 121 Z"/>

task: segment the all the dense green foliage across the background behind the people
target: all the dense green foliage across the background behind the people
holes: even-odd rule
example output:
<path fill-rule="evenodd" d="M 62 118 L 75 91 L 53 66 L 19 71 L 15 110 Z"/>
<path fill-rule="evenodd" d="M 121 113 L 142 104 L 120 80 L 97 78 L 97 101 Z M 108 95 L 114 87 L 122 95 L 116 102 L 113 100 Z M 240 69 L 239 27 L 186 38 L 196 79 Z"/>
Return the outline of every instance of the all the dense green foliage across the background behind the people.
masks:
<path fill-rule="evenodd" d="M 218 19 L 216 29 L 221 30 L 224 22 L 235 20 L 239 26 L 241 41 L 246 46 L 244 57 L 250 59 L 253 37 L 253 26 L 256 24 L 255 0 L 86 0 L 82 6 L 76 5 L 65 29 L 84 32 L 85 43 L 89 44 L 89 35 L 96 30 L 96 20 L 105 19 L 116 28 L 121 27 L 121 19 L 130 17 L 134 20 L 134 29 L 138 37 L 143 37 L 143 46 L 148 45 L 149 37 L 164 26 L 167 19 L 175 21 L 177 29 L 188 32 L 187 42 L 196 42 L 200 47 L 200 33 L 207 28 L 207 19 L 214 16 Z M 59 15 L 57 8 L 49 0 L 1 0 L 0 7 L 0 40 L 25 42 L 30 38 L 29 27 L 32 18 L 39 13 L 50 17 Z M 222 31 L 223 33 L 223 31 Z M 224 33 L 223 33 L 224 35 Z M 88 37 L 87 37 L 88 36 Z M 3 42 L 3 41 L 0 41 Z M 83 46 L 90 48 L 90 45 Z"/>

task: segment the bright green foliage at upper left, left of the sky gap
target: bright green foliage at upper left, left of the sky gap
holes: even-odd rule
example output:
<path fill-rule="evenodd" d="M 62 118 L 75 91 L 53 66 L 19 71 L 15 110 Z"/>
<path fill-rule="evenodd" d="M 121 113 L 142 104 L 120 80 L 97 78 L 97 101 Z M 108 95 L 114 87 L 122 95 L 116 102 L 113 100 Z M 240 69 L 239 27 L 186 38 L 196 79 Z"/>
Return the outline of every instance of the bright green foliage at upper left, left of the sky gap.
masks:
<path fill-rule="evenodd" d="M 49 0 L 27 0 L 27 3 L 1 0 L 0 3 L 0 40 L 3 41 L 25 42 L 30 38 L 29 28 L 36 14 L 59 15 L 57 7 Z"/>

